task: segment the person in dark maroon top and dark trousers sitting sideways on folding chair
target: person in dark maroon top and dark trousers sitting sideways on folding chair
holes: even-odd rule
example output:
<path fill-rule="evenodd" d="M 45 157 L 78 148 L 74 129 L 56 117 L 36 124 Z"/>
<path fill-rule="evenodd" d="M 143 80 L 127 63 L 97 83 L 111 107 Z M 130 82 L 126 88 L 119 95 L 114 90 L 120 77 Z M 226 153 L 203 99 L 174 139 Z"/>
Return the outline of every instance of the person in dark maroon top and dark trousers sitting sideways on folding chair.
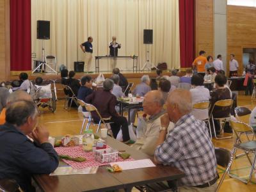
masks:
<path fill-rule="evenodd" d="M 129 130 L 127 119 L 124 116 L 119 116 L 116 113 L 116 97 L 111 93 L 114 87 L 114 82 L 111 79 L 106 79 L 103 82 L 103 90 L 97 90 L 91 95 L 86 97 L 85 102 L 93 104 L 95 106 L 102 118 L 109 118 L 111 130 L 113 132 L 114 138 L 116 138 L 120 128 L 122 129 L 123 141 L 125 143 L 130 142 Z M 92 111 L 92 118 L 95 122 L 99 122 L 100 118 L 95 111 Z"/>

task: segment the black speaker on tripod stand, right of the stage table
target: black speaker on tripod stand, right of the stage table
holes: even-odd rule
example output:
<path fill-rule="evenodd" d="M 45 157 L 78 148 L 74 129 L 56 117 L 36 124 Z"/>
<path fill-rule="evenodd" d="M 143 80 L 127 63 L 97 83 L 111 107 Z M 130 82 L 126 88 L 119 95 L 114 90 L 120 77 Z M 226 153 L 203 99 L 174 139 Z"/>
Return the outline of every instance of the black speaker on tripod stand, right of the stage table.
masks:
<path fill-rule="evenodd" d="M 149 45 L 153 44 L 153 29 L 143 30 L 143 44 L 146 45 L 146 62 L 144 63 L 141 71 L 143 71 L 145 68 L 147 68 L 147 70 L 151 70 L 152 63 L 150 63 L 149 60 Z M 153 67 L 157 69 L 156 66 Z"/>

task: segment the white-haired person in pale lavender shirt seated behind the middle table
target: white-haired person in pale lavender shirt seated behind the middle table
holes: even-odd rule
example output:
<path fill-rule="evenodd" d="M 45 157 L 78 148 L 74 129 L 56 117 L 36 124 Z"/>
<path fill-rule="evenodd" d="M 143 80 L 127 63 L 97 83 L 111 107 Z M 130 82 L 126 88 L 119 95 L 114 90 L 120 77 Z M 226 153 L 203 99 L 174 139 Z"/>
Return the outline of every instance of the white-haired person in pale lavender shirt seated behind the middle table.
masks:
<path fill-rule="evenodd" d="M 144 95 L 146 95 L 147 92 L 151 91 L 151 88 L 150 88 L 149 85 L 150 85 L 149 76 L 142 76 L 141 77 L 141 83 L 137 84 L 137 86 L 132 91 L 132 95 L 144 97 Z M 130 121 L 131 121 L 132 124 L 134 124 L 134 122 L 135 122 L 135 116 L 136 116 L 137 111 L 138 111 L 137 109 L 131 109 Z"/>

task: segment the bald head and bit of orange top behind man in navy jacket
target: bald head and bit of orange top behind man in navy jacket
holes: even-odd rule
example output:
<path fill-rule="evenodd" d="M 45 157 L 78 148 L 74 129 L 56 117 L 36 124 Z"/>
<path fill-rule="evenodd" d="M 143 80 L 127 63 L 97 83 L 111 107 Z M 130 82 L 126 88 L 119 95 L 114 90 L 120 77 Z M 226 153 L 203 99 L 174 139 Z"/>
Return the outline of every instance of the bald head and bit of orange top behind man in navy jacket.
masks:
<path fill-rule="evenodd" d="M 29 93 L 25 92 L 24 90 L 17 90 L 15 92 L 12 92 L 7 97 L 6 106 L 9 106 L 13 102 L 16 102 L 19 100 L 33 101 L 33 99 L 31 98 L 31 95 L 29 95 Z M 6 108 L 3 108 L 3 110 L 0 113 L 0 125 L 3 125 L 5 123 L 5 113 L 6 113 Z"/>

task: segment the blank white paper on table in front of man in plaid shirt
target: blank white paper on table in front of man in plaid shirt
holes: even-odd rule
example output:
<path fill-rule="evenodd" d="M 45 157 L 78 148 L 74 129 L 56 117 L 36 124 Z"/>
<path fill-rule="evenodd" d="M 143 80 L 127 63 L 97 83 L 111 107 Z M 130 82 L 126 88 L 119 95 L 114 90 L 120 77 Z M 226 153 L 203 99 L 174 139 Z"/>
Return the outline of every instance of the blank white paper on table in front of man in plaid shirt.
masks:
<path fill-rule="evenodd" d="M 156 166 L 150 159 L 110 163 L 111 166 L 113 166 L 113 164 L 117 164 L 118 166 L 120 166 L 120 168 L 122 168 L 122 170 L 133 170 L 138 168 Z"/>

